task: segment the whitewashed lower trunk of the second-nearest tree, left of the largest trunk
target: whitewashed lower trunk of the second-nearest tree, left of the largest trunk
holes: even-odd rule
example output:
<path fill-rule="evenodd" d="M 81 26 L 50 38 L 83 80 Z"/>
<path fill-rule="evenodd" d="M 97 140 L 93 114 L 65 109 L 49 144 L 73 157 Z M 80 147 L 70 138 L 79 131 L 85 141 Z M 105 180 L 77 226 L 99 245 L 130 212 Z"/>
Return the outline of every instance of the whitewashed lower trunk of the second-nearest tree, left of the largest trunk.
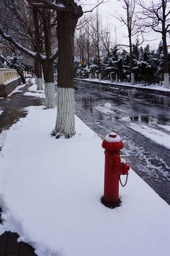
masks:
<path fill-rule="evenodd" d="M 49 82 L 45 83 L 44 91 L 46 94 L 46 107 L 47 108 L 55 108 L 55 90 L 54 90 L 54 83 Z"/>

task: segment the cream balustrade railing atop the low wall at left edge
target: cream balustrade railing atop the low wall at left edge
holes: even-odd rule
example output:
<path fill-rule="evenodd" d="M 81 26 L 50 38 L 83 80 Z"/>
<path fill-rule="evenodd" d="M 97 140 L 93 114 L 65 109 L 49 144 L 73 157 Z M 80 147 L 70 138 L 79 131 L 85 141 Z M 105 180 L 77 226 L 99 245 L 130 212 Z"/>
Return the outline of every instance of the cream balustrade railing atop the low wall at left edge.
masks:
<path fill-rule="evenodd" d="M 16 69 L 0 68 L 0 85 L 8 84 L 18 78 L 19 74 Z"/>

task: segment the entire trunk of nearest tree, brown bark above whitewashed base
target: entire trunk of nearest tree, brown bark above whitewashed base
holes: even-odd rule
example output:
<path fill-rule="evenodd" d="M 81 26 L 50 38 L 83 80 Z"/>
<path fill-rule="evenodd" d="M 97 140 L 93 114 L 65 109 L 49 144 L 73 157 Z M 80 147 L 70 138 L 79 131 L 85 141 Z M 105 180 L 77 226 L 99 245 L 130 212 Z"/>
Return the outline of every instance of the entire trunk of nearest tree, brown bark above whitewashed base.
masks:
<path fill-rule="evenodd" d="M 74 32 L 77 17 L 72 13 L 57 13 L 58 82 L 57 119 L 55 132 L 59 137 L 75 135 L 74 114 Z M 66 61 L 65 61 L 66 60 Z"/>

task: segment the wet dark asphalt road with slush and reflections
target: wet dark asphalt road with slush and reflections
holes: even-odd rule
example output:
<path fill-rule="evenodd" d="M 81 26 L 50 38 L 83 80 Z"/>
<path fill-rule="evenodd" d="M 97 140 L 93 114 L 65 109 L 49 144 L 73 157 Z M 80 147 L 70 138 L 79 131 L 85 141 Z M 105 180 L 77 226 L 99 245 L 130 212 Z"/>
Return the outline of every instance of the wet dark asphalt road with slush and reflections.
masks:
<path fill-rule="evenodd" d="M 119 134 L 123 158 L 167 203 L 170 150 L 134 131 L 134 126 L 146 131 L 153 128 L 155 136 L 160 136 L 157 131 L 170 135 L 169 110 L 168 96 L 75 81 L 76 115 L 101 139 L 111 131 Z"/>

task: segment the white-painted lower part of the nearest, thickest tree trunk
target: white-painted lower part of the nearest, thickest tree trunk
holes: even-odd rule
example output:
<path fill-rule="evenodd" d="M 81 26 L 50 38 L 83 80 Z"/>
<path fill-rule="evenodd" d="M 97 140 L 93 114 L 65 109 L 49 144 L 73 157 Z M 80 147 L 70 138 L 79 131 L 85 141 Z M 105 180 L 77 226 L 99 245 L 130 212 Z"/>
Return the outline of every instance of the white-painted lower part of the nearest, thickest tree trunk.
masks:
<path fill-rule="evenodd" d="M 57 88 L 56 135 L 75 135 L 74 88 Z"/>

